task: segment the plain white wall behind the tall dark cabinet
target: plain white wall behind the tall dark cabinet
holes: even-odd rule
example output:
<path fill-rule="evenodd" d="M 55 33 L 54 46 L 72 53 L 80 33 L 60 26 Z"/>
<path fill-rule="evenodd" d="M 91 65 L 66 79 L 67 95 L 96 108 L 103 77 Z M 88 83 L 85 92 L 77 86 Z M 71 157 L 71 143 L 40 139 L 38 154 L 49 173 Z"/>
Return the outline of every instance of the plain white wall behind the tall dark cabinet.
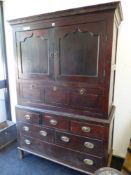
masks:
<path fill-rule="evenodd" d="M 91 4 L 106 3 L 111 0 L 5 0 L 5 29 L 7 57 L 9 67 L 9 81 L 11 94 L 12 118 L 15 121 L 16 91 L 15 91 L 15 68 L 13 58 L 11 27 L 6 22 L 13 18 L 42 14 L 73 7 L 87 6 Z M 115 86 L 116 118 L 114 129 L 114 154 L 125 156 L 129 139 L 131 137 L 131 0 L 121 0 L 124 21 L 119 30 L 119 42 L 117 53 L 117 73 Z"/>

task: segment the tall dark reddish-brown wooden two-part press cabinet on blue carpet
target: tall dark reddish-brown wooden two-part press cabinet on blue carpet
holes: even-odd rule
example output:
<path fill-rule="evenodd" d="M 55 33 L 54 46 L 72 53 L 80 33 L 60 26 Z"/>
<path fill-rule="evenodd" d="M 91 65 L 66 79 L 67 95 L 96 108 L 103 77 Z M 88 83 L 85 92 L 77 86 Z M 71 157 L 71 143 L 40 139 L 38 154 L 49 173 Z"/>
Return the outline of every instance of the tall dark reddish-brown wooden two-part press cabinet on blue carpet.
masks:
<path fill-rule="evenodd" d="M 109 164 L 119 2 L 10 21 L 18 149 L 87 174 Z"/>

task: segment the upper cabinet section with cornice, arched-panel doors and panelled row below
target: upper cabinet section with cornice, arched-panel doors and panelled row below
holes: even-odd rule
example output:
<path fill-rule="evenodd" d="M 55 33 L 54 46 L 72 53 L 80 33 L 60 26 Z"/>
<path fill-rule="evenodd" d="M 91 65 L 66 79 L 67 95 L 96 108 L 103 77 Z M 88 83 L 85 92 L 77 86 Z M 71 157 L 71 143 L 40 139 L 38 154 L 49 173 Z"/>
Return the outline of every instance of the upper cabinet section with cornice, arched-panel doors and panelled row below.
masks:
<path fill-rule="evenodd" d="M 10 21 L 18 103 L 107 118 L 121 20 L 112 2 Z"/>

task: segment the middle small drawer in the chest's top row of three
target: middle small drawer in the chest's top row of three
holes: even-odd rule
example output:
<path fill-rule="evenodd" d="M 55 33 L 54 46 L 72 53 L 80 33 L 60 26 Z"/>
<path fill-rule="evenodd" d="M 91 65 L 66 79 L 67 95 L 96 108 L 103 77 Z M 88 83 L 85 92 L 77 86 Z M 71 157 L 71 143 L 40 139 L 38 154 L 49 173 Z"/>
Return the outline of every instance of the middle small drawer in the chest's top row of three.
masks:
<path fill-rule="evenodd" d="M 42 124 L 61 130 L 69 130 L 69 120 L 63 116 L 46 113 L 42 117 Z"/>

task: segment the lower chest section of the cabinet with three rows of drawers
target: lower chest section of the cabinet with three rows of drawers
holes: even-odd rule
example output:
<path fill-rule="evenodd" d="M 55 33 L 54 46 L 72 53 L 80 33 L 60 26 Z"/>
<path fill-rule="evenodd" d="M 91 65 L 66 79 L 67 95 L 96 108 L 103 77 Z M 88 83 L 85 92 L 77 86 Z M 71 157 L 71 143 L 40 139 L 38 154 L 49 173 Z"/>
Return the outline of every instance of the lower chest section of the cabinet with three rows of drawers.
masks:
<path fill-rule="evenodd" d="M 107 165 L 110 126 L 24 108 L 16 116 L 20 149 L 86 173 Z"/>

